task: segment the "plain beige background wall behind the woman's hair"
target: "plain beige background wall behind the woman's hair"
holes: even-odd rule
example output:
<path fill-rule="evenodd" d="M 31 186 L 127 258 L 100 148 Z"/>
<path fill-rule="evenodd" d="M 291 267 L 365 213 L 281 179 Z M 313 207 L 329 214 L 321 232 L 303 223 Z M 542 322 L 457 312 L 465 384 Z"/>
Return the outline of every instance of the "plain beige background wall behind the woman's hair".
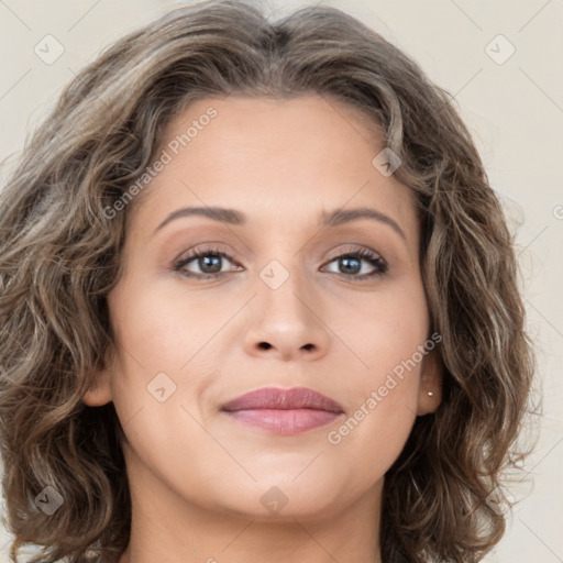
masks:
<path fill-rule="evenodd" d="M 264 0 L 274 15 L 303 1 Z M 316 2 L 311 2 L 316 3 Z M 376 29 L 455 97 L 518 229 L 529 328 L 538 346 L 544 415 L 509 531 L 488 563 L 563 562 L 563 2 L 561 0 L 323 1 Z M 102 47 L 172 0 L 0 0 L 0 158 L 20 150 L 62 87 Z M 63 55 L 34 47 L 51 34 Z M 503 64 L 510 45 L 516 49 Z M 40 44 L 41 45 L 41 44 Z M 497 53 L 492 53 L 492 51 Z M 487 53 L 488 52 L 488 53 Z M 533 478 L 532 478 L 533 477 Z M 0 530 L 0 563 L 9 534 Z"/>

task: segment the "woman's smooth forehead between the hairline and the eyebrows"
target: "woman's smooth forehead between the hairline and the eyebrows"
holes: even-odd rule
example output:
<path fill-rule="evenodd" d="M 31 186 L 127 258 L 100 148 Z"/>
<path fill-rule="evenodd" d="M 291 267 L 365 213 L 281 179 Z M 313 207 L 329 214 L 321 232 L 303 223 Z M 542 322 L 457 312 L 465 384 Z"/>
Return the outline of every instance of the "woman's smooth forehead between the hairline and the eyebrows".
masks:
<path fill-rule="evenodd" d="M 371 207 L 413 236 L 410 190 L 373 164 L 382 148 L 377 123 L 317 95 L 201 99 L 163 134 L 157 154 L 169 162 L 147 188 L 143 223 L 155 227 L 175 207 L 210 206 L 244 209 L 249 227 L 299 229 L 322 211 Z"/>

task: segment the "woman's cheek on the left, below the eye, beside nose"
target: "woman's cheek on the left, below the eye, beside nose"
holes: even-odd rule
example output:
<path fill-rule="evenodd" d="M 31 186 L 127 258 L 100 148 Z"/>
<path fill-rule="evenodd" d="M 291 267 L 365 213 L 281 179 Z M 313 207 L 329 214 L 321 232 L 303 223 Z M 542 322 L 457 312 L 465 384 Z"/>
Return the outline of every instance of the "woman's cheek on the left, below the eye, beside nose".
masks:
<path fill-rule="evenodd" d="M 137 420 L 129 432 L 143 424 L 141 418 L 152 421 L 140 440 L 157 443 L 162 432 L 192 420 L 183 407 L 197 420 L 207 415 L 199 398 L 208 396 L 222 356 L 221 339 L 213 338 L 240 305 L 231 298 L 231 307 L 211 300 L 203 306 L 199 291 L 178 289 L 177 284 L 151 285 L 141 275 L 123 282 L 108 298 L 119 347 L 113 402 L 122 423 Z"/>

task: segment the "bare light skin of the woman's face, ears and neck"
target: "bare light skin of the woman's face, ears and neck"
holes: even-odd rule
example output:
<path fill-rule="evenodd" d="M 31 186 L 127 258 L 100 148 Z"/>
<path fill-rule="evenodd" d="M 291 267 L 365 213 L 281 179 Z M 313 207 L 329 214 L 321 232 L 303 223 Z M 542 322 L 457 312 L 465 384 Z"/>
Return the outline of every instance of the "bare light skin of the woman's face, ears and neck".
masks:
<path fill-rule="evenodd" d="M 434 353 L 340 443 L 328 433 L 429 339 L 411 192 L 372 165 L 384 145 L 366 118 L 317 95 L 199 100 L 166 142 L 210 106 L 217 118 L 128 209 L 123 276 L 108 297 L 115 353 L 84 397 L 113 401 L 126 437 L 132 532 L 120 563 L 380 562 L 384 475 L 416 417 L 441 400 Z M 188 206 L 249 220 L 184 217 L 155 232 Z M 356 207 L 385 213 L 405 238 L 369 219 L 319 227 L 322 211 Z M 206 243 L 232 256 L 222 277 L 174 271 Z M 365 258 L 350 274 L 338 260 L 350 247 L 382 257 L 385 275 L 358 280 L 377 271 Z M 276 289 L 260 277 L 273 260 L 289 274 Z M 202 267 L 196 257 L 185 271 L 212 272 Z M 147 390 L 158 373 L 176 385 L 163 402 Z M 266 386 L 310 387 L 344 419 L 276 435 L 220 410 Z M 287 498 L 277 514 L 261 501 L 274 486 Z"/>

